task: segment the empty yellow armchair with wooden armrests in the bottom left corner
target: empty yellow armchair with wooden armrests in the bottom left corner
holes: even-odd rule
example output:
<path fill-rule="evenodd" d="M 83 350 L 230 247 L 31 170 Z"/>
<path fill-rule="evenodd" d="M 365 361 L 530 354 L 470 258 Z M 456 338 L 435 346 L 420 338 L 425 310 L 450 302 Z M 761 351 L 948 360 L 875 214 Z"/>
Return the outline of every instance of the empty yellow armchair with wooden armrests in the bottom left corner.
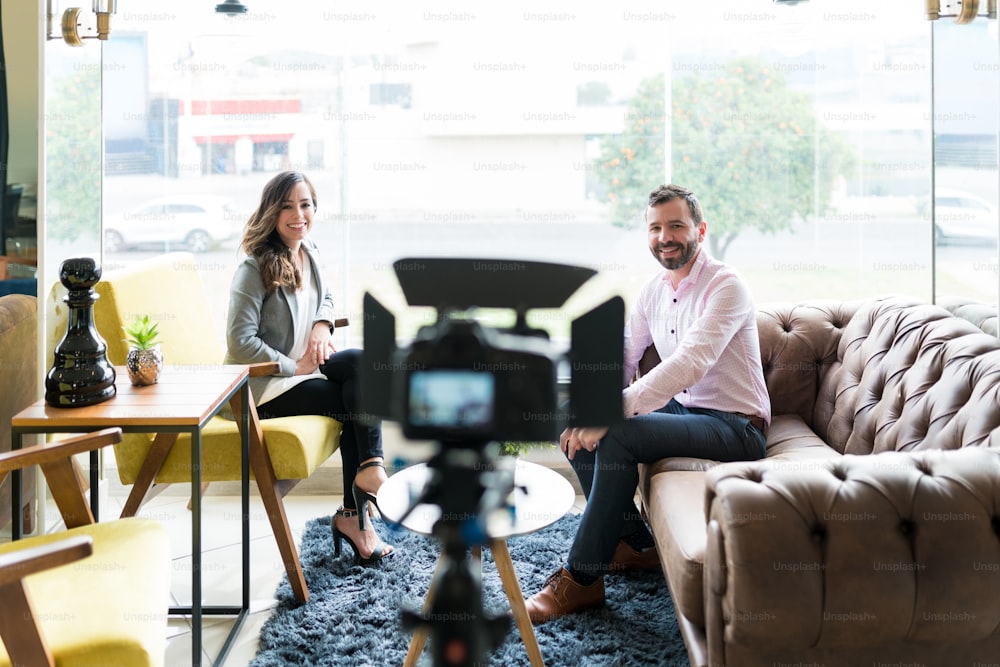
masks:
<path fill-rule="evenodd" d="M 148 519 L 93 523 L 73 459 L 120 440 L 105 429 L 0 454 L 0 479 L 42 467 L 68 529 L 0 545 L 0 667 L 163 664 L 167 531 Z"/>

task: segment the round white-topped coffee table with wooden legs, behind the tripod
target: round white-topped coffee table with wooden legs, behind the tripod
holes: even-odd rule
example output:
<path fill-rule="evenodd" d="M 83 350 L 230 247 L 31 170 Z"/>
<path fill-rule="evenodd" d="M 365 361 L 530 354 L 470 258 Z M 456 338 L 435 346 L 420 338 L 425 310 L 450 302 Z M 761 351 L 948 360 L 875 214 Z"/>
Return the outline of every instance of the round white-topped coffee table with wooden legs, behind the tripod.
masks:
<path fill-rule="evenodd" d="M 407 529 L 421 535 L 430 535 L 435 522 L 441 517 L 440 507 L 420 504 L 406 514 L 414 499 L 419 497 L 428 478 L 429 470 L 425 463 L 409 466 L 389 477 L 378 491 L 378 505 L 382 516 L 387 521 L 397 523 L 403 519 L 402 525 Z M 569 511 L 575 499 L 573 486 L 562 475 L 537 463 L 518 459 L 514 469 L 513 511 L 499 513 L 488 521 L 489 548 L 493 552 L 497 573 L 510 602 L 514 622 L 521 633 L 528 659 L 534 667 L 544 665 L 542 652 L 538 648 L 535 630 L 524 607 L 524 596 L 514 572 L 510 551 L 507 550 L 507 538 L 527 535 L 555 523 Z M 440 564 L 441 561 L 438 561 L 439 566 Z M 424 601 L 425 614 L 430 611 L 433 600 L 434 579 L 431 580 L 431 587 Z M 404 665 L 417 664 L 427 635 L 425 629 L 418 629 L 413 633 Z"/>

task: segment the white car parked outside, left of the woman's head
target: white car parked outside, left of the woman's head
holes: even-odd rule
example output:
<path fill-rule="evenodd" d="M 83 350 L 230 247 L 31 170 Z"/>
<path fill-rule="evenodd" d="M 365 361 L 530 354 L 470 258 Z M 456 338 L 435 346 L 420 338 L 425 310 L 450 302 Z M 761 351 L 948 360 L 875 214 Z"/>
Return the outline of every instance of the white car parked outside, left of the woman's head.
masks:
<path fill-rule="evenodd" d="M 107 221 L 106 252 L 156 246 L 207 252 L 238 241 L 248 214 L 231 200 L 211 195 L 177 195 L 153 199 Z"/>

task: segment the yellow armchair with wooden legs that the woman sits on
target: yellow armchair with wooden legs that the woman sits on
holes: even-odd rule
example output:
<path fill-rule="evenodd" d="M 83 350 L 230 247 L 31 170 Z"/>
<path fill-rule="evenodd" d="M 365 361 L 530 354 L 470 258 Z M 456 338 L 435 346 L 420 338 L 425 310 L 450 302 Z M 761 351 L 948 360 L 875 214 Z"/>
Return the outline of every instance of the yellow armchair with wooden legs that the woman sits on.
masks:
<path fill-rule="evenodd" d="M 216 323 L 192 254 L 168 253 L 107 271 L 95 289 L 99 298 L 94 304 L 94 323 L 108 345 L 112 364 L 124 365 L 128 346 L 122 326 L 137 315 L 149 315 L 159 323 L 160 345 L 168 367 L 190 369 L 222 363 L 222 328 Z M 339 324 L 346 324 L 346 320 Z M 273 372 L 269 364 L 251 368 L 251 375 Z M 251 474 L 260 489 L 289 583 L 296 599 L 305 602 L 309 590 L 281 498 L 333 455 L 343 425 L 318 415 L 258 420 L 253 405 L 250 409 Z M 191 481 L 191 440 L 187 435 L 125 434 L 115 446 L 115 458 L 119 479 L 132 485 L 122 516 L 133 516 L 164 485 Z M 203 483 L 241 478 L 240 434 L 235 421 L 215 417 L 205 427 L 201 478 Z"/>

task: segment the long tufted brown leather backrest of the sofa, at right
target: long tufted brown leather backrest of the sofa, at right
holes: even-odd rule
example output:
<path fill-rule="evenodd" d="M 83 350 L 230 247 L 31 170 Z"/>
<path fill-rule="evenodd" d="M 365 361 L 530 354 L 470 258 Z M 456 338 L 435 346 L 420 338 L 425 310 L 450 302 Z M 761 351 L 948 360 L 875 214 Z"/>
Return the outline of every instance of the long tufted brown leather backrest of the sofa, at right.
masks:
<path fill-rule="evenodd" d="M 1000 446 L 1000 341 L 939 306 L 864 304 L 839 337 L 812 427 L 845 454 Z"/>

